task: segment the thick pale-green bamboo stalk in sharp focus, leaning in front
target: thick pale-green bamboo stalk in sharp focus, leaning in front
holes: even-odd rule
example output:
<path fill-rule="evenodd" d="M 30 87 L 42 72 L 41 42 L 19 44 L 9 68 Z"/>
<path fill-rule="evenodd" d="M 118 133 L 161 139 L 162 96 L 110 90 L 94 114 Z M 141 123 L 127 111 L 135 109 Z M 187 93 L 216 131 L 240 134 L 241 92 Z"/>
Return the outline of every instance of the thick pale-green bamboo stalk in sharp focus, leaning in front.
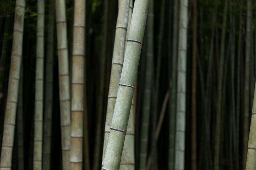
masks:
<path fill-rule="evenodd" d="M 149 0 L 135 0 L 103 170 L 118 170 L 146 26 Z"/>

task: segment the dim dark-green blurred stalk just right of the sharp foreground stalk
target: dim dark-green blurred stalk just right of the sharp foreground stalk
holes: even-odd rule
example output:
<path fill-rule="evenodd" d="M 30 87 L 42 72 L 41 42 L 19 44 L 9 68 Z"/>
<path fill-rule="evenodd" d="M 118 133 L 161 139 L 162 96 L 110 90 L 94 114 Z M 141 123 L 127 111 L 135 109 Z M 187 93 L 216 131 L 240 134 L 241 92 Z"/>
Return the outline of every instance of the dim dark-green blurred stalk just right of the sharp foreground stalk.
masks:
<path fill-rule="evenodd" d="M 164 0 L 165 1 L 165 0 Z M 148 150 L 148 133 L 149 133 L 149 123 L 150 123 L 150 110 L 151 108 L 151 89 L 152 89 L 152 74 L 153 74 L 153 0 L 149 0 L 149 7 L 148 7 L 148 18 L 147 18 L 147 54 L 146 54 L 146 68 L 145 68 L 145 81 L 144 81 L 144 91 L 143 91 L 143 108 L 142 108 L 142 125 L 141 125 L 141 139 L 140 139 L 140 170 L 146 169 L 147 163 L 147 150 Z M 161 8 L 163 9 L 163 8 Z M 162 11 L 161 11 L 162 12 Z M 161 29 L 161 28 L 160 28 Z M 160 42 L 159 42 L 160 43 Z M 160 49 L 158 49 L 160 50 Z M 161 58 L 161 56 L 158 56 Z M 159 64 L 159 60 L 158 60 Z M 159 70 L 159 69 L 158 69 Z M 157 70 L 157 71 L 158 71 Z M 158 83 L 158 81 L 156 80 Z M 157 84 L 156 83 L 156 84 Z M 154 84 L 155 85 L 155 84 Z M 157 87 L 155 87 L 157 88 Z M 156 91 L 156 92 L 155 92 Z M 154 95 L 157 98 L 158 90 L 155 89 Z M 157 99 L 156 99 L 157 100 Z M 157 100 L 158 101 L 158 100 Z M 157 114 L 157 104 L 154 103 L 155 109 L 153 114 Z M 153 129 L 155 131 L 155 129 Z"/>

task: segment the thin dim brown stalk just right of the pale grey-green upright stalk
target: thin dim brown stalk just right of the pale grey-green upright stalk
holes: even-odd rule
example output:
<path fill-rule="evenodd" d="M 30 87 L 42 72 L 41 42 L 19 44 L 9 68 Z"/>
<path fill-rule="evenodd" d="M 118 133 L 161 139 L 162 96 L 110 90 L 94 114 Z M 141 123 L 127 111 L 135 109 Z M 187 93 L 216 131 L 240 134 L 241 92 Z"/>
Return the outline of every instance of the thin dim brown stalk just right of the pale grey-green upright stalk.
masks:
<path fill-rule="evenodd" d="M 196 149 L 196 53 L 197 53 L 197 0 L 193 2 L 193 56 L 192 56 L 192 170 L 197 170 Z"/>

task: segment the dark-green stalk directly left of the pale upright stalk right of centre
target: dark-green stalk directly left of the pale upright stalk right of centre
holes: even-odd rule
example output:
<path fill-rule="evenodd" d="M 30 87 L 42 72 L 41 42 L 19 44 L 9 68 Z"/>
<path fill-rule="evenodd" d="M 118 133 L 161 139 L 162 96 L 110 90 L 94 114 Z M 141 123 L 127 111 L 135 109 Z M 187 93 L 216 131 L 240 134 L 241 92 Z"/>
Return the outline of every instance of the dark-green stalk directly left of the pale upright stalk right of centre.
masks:
<path fill-rule="evenodd" d="M 172 75 L 169 100 L 169 150 L 168 150 L 168 169 L 174 170 L 175 155 L 175 127 L 176 127 L 176 87 L 177 87 L 177 42 L 178 42 L 178 3 L 173 0 L 173 32 L 172 32 Z M 171 49 L 171 47 L 170 47 Z"/>

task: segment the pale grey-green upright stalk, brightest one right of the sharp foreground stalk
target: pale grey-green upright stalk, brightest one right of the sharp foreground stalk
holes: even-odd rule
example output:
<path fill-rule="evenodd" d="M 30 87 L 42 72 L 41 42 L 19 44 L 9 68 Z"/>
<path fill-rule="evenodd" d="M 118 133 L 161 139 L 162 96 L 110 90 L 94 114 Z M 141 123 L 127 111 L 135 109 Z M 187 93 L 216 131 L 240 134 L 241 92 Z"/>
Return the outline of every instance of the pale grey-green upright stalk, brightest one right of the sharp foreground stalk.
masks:
<path fill-rule="evenodd" d="M 180 0 L 178 34 L 176 142 L 174 169 L 185 168 L 186 72 L 187 72 L 188 0 Z"/>

